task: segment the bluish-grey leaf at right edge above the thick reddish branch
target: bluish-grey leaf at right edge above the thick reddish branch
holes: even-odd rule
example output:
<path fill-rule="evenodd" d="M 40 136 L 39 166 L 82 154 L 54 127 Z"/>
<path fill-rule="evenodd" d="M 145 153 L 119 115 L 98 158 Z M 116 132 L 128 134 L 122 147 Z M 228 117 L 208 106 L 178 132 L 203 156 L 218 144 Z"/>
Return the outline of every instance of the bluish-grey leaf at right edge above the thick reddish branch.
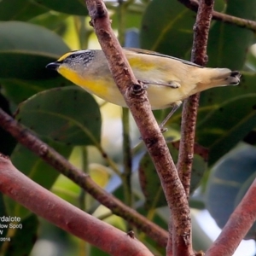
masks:
<path fill-rule="evenodd" d="M 220 228 L 224 227 L 234 211 L 237 196 L 247 179 L 256 172 L 255 156 L 255 147 L 241 143 L 218 160 L 212 168 L 207 184 L 206 204 Z"/>

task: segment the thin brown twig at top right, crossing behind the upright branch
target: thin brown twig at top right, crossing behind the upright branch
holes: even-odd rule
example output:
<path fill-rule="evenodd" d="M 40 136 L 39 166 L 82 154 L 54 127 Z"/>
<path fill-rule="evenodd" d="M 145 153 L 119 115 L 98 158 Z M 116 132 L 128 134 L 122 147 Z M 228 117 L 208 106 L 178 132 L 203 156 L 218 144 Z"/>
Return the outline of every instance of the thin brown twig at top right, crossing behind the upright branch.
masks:
<path fill-rule="evenodd" d="M 189 9 L 197 12 L 199 1 L 197 0 L 178 0 L 180 3 L 183 3 Z M 219 13 L 217 11 L 212 12 L 213 20 L 220 20 L 225 23 L 229 23 L 235 26 L 245 27 L 253 32 L 256 32 L 256 22 L 254 20 L 246 20 L 232 15 L 226 15 Z"/>

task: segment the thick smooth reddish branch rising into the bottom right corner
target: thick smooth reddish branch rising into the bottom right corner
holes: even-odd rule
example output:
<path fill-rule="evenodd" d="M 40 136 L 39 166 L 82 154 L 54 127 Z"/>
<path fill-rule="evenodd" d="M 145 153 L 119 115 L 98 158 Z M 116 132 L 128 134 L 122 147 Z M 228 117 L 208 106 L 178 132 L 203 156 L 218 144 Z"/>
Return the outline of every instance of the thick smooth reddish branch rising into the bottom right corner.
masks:
<path fill-rule="evenodd" d="M 206 256 L 231 256 L 248 230 L 256 221 L 256 179 L 236 210 L 231 214 L 227 224 L 217 240 L 207 250 Z"/>

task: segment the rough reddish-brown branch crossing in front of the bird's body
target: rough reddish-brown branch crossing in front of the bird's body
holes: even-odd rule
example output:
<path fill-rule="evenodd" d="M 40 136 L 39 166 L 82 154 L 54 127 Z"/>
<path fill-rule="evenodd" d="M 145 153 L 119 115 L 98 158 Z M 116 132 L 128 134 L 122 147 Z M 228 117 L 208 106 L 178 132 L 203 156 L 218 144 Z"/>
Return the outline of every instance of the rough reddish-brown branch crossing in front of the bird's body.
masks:
<path fill-rule="evenodd" d="M 115 37 L 108 17 L 108 10 L 100 0 L 85 1 L 94 26 L 96 35 L 102 46 L 113 79 L 125 97 L 125 102 L 141 132 L 148 153 L 160 177 L 160 182 L 166 195 L 166 201 L 172 211 L 172 220 L 176 242 L 175 255 L 193 255 L 190 240 L 189 204 L 183 185 L 177 176 L 176 166 L 166 146 L 166 141 L 154 119 L 143 84 L 134 77 L 131 67 L 123 54 Z M 102 5 L 102 6 L 101 6 Z M 100 13 L 97 13 L 97 11 Z M 188 239 L 189 237 L 189 239 Z M 172 239 L 171 236 L 169 236 Z"/>

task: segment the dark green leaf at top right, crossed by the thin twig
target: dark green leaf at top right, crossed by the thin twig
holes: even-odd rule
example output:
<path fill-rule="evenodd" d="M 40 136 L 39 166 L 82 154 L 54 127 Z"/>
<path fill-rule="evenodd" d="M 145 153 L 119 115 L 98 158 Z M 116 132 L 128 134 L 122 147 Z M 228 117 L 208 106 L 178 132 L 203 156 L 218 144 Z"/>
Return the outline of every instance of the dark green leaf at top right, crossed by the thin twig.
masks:
<path fill-rule="evenodd" d="M 233 0 L 227 2 L 227 15 L 255 20 L 256 2 Z M 246 60 L 247 48 L 253 43 L 254 33 L 242 27 L 215 21 L 207 47 L 208 67 L 241 69 Z M 242 39 L 241 39 L 242 38 Z"/>

